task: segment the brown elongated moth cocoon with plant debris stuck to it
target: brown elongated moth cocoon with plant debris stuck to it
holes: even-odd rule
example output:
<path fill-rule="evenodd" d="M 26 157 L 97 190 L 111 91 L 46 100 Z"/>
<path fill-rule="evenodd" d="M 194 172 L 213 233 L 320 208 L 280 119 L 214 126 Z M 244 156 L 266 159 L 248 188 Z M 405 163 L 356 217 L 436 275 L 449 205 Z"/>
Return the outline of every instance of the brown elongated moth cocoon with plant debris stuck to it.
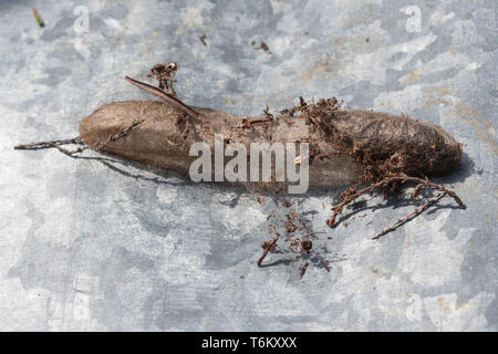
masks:
<path fill-rule="evenodd" d="M 215 134 L 247 150 L 251 143 L 307 142 L 310 186 L 349 185 L 362 176 L 375 179 L 383 171 L 446 173 L 460 160 L 460 144 L 438 126 L 385 113 L 330 110 L 320 102 L 307 107 L 300 116 L 282 114 L 266 121 L 201 107 L 191 107 L 198 113 L 194 117 L 166 102 L 115 102 L 85 117 L 80 136 L 86 145 L 95 145 L 143 121 L 102 150 L 184 175 L 195 160 L 190 146 L 203 142 L 214 152 Z M 256 123 L 241 125 L 242 121 Z M 294 164 L 300 163 L 298 156 Z"/>

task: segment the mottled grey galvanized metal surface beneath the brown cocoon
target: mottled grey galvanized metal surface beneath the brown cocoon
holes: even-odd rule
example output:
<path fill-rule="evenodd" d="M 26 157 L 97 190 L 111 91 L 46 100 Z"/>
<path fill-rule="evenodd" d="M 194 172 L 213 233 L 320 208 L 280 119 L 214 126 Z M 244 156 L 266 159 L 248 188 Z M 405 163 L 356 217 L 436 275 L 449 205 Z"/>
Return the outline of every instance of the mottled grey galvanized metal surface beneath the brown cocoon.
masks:
<path fill-rule="evenodd" d="M 2 1 L 0 50 L 0 330 L 497 330 L 496 1 Z M 465 149 L 439 181 L 468 209 L 446 200 L 372 241 L 414 205 L 377 198 L 330 230 L 336 191 L 293 198 L 332 237 L 299 279 L 293 253 L 255 266 L 270 197 L 12 149 L 149 98 L 123 76 L 166 60 L 195 105 L 257 115 L 335 95 L 439 124 Z"/>

